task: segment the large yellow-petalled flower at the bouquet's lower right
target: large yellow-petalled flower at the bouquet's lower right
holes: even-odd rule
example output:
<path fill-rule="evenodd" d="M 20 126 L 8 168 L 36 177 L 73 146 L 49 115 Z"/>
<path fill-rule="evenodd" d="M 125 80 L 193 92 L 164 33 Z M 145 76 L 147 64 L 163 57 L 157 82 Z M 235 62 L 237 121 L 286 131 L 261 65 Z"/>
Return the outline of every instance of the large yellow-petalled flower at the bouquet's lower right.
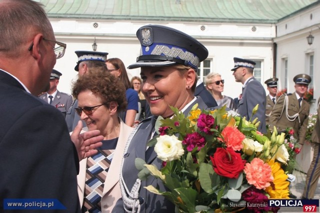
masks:
<path fill-rule="evenodd" d="M 273 181 L 271 182 L 271 186 L 265 188 L 265 192 L 270 198 L 289 199 L 289 182 L 286 181 L 288 176 L 284 174 L 278 162 L 270 160 L 268 164 L 271 167 Z"/>

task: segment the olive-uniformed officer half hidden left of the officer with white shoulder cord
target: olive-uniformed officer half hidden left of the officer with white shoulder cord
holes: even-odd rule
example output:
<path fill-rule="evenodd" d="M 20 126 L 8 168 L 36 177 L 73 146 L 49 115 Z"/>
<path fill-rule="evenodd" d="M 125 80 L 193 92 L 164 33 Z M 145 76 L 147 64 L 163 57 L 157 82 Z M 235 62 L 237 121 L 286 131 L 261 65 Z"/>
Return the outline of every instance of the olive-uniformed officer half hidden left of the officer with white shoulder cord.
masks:
<path fill-rule="evenodd" d="M 278 89 L 278 79 L 269 78 L 264 81 L 266 84 L 266 89 L 269 91 L 269 94 L 266 96 L 266 106 L 265 106 L 265 123 L 269 125 L 269 116 L 276 101 L 276 92 Z"/>

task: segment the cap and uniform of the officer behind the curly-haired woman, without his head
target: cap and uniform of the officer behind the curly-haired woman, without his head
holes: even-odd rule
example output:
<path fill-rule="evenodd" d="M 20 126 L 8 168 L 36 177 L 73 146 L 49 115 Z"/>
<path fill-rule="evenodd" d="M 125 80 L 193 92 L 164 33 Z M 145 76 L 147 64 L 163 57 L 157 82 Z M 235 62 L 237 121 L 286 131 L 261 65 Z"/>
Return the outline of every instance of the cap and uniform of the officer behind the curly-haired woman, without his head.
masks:
<path fill-rule="evenodd" d="M 82 61 L 98 61 L 99 63 L 105 62 L 107 52 L 96 52 L 96 51 L 75 51 L 75 54 L 78 57 L 78 61 L 74 67 L 75 71 L 79 71 L 79 64 Z M 74 108 L 78 106 L 78 101 L 74 100 L 71 104 L 71 107 L 66 112 L 65 122 L 68 127 L 69 132 L 72 132 L 74 127 L 77 125 L 78 121 L 80 120 L 80 116 L 75 113 Z M 83 126 L 85 123 L 82 121 Z"/>

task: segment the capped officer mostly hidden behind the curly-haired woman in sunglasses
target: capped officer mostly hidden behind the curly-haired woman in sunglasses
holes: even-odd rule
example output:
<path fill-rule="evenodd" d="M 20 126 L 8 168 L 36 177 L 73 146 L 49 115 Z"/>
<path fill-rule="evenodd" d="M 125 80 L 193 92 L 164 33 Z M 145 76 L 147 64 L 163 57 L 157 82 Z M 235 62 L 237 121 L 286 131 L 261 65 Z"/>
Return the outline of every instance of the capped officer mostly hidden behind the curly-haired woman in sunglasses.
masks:
<path fill-rule="evenodd" d="M 74 67 L 74 70 L 78 72 L 79 77 L 89 74 L 90 69 L 93 67 L 101 67 L 105 71 L 106 65 L 105 60 L 107 52 L 96 52 L 96 51 L 75 51 L 75 54 L 78 57 L 78 61 Z M 71 107 L 66 113 L 65 122 L 68 127 L 69 132 L 72 132 L 74 127 L 77 125 L 80 120 L 80 116 L 75 113 L 74 108 L 78 106 L 78 101 L 74 100 Z M 84 121 L 82 121 L 83 126 L 85 126 Z"/>

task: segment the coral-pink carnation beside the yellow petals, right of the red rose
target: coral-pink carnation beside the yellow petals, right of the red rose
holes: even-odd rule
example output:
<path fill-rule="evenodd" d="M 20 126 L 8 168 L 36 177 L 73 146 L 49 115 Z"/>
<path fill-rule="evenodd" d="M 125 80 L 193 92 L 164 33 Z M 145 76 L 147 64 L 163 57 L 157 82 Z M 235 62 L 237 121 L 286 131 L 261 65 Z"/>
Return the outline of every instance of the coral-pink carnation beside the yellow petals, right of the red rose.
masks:
<path fill-rule="evenodd" d="M 251 163 L 246 163 L 243 171 L 248 183 L 259 190 L 269 187 L 273 181 L 271 167 L 259 158 L 253 158 Z"/>

